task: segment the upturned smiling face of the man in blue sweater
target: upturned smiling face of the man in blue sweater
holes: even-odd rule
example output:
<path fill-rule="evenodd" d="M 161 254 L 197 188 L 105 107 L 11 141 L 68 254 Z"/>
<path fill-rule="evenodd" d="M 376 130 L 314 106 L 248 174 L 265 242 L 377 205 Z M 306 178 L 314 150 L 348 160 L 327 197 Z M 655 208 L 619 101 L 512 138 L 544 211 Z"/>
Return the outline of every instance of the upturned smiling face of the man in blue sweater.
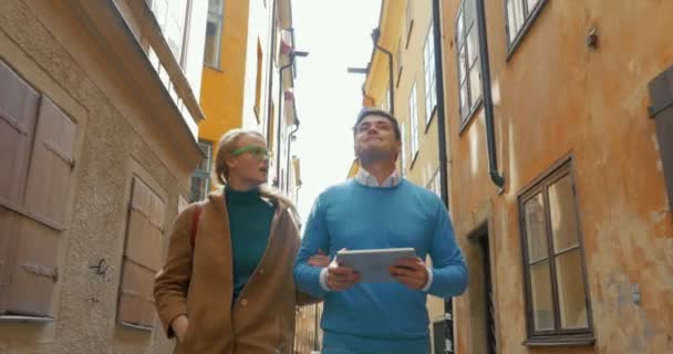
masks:
<path fill-rule="evenodd" d="M 382 116 L 370 115 L 355 127 L 355 156 L 359 158 L 392 158 L 400 154 L 393 123 Z"/>

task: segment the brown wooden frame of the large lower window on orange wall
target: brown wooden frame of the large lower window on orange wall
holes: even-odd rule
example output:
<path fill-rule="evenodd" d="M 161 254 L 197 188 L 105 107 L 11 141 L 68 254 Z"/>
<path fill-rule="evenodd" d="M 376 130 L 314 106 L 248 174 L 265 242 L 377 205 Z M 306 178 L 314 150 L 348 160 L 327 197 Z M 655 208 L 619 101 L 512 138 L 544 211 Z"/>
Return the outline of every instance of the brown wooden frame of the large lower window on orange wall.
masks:
<path fill-rule="evenodd" d="M 549 210 L 549 187 L 558 183 L 565 177 L 570 178 L 573 190 L 573 210 L 577 220 L 577 249 L 580 253 L 580 267 L 582 272 L 582 285 L 584 287 L 584 306 L 587 309 L 587 327 L 581 329 L 562 329 L 560 324 L 560 300 L 558 290 L 558 274 L 555 260 L 558 256 L 565 254 L 565 250 L 556 252 L 553 250 L 553 239 L 551 235 L 550 210 Z M 528 232 L 526 228 L 526 210 L 525 206 L 528 201 L 542 196 L 545 208 L 545 236 L 547 240 L 547 260 L 549 262 L 549 281 L 551 290 L 552 311 L 555 315 L 552 330 L 535 330 L 534 309 L 532 309 L 532 284 L 530 275 L 530 259 L 528 252 Z M 531 181 L 517 196 L 517 211 L 519 217 L 519 236 L 521 242 L 521 267 L 524 278 L 524 295 L 526 306 L 526 332 L 527 339 L 524 342 L 530 346 L 549 346 L 549 345 L 592 345 L 594 340 L 593 316 L 591 311 L 591 295 L 589 293 L 589 281 L 587 271 L 587 261 L 584 254 L 583 232 L 581 228 L 581 216 L 579 210 L 579 200 L 577 192 L 577 179 L 574 176 L 574 159 L 566 156 L 551 167 L 546 169 L 540 176 Z M 574 249 L 573 249 L 574 250 Z"/>

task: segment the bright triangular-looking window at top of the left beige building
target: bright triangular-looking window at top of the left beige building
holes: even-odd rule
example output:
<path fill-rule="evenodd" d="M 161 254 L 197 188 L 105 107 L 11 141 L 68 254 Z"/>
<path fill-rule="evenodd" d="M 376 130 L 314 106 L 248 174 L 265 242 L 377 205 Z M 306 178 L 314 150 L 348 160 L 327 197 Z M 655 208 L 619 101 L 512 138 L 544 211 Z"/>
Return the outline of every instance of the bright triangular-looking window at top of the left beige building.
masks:
<path fill-rule="evenodd" d="M 154 0 L 148 4 L 156 18 L 168 48 L 178 63 L 183 63 L 183 45 L 187 30 L 189 0 Z"/>

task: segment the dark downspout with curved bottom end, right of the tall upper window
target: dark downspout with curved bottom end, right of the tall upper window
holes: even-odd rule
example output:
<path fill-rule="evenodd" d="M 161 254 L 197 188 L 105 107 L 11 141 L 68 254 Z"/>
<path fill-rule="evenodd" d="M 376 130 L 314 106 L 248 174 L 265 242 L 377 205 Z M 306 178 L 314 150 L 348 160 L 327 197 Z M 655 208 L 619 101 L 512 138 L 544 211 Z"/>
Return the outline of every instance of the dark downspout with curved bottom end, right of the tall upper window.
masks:
<path fill-rule="evenodd" d="M 488 148 L 488 174 L 490 180 L 503 191 L 505 177 L 498 173 L 498 155 L 494 129 L 493 97 L 490 95 L 490 69 L 488 61 L 488 35 L 486 34 L 486 11 L 484 0 L 477 0 L 477 25 L 479 30 L 479 52 L 482 53 L 482 95 L 484 97 L 484 117 L 486 123 L 486 144 Z"/>

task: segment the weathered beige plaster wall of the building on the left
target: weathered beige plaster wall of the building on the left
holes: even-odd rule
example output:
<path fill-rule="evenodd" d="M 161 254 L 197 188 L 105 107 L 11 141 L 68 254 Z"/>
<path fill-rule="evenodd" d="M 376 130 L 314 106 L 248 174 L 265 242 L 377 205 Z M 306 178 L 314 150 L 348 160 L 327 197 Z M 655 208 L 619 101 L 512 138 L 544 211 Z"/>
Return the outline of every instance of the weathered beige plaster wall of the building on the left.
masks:
<path fill-rule="evenodd" d="M 168 353 L 172 346 L 159 329 L 116 323 L 131 177 L 141 176 L 164 199 L 169 230 L 196 162 L 177 155 L 161 122 L 144 118 L 149 106 L 134 97 L 101 53 L 63 2 L 0 1 L 0 59 L 86 122 L 71 222 L 59 244 L 54 320 L 0 321 L 2 354 Z M 105 275 L 90 269 L 101 259 L 111 266 Z"/>

